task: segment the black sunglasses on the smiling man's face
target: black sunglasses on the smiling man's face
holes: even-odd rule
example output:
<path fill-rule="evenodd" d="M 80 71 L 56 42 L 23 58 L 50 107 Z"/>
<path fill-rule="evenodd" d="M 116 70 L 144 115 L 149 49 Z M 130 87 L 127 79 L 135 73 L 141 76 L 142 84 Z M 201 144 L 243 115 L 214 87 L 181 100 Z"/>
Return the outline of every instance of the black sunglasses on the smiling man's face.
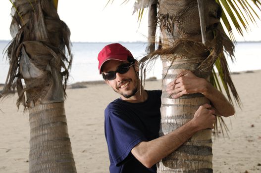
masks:
<path fill-rule="evenodd" d="M 129 71 L 130 67 L 133 65 L 134 65 L 134 62 L 123 63 L 118 66 L 116 71 L 107 72 L 106 74 L 103 73 L 103 78 L 104 78 L 104 80 L 108 80 L 108 81 L 114 80 L 116 78 L 116 73 L 119 73 L 119 74 L 127 73 Z"/>

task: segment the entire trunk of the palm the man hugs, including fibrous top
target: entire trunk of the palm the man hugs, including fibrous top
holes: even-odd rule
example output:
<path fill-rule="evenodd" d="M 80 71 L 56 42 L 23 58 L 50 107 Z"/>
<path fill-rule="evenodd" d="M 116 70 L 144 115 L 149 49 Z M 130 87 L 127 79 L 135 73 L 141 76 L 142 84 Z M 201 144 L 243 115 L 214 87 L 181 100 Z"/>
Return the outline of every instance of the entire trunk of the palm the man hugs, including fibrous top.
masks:
<path fill-rule="evenodd" d="M 209 81 L 213 64 L 223 52 L 233 52 L 219 18 L 221 8 L 215 0 L 204 0 L 206 43 L 202 43 L 197 0 L 159 0 L 160 46 L 156 54 L 163 64 L 160 135 L 190 121 L 200 105 L 209 103 L 201 93 L 171 99 L 166 85 L 185 70 Z M 202 6 L 202 5 L 201 5 Z M 203 28 L 204 29 L 204 28 Z M 211 130 L 201 130 L 175 152 L 157 164 L 157 173 L 212 173 Z"/>

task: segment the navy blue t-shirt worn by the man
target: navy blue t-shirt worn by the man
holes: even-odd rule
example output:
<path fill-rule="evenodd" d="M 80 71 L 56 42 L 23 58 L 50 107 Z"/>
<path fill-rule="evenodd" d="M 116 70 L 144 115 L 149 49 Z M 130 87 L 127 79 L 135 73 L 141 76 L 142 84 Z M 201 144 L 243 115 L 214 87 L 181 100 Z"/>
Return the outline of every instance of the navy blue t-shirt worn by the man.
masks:
<path fill-rule="evenodd" d="M 104 111 L 110 173 L 157 173 L 156 165 L 148 169 L 131 153 L 138 143 L 158 137 L 161 90 L 146 91 L 145 102 L 130 103 L 118 98 Z"/>

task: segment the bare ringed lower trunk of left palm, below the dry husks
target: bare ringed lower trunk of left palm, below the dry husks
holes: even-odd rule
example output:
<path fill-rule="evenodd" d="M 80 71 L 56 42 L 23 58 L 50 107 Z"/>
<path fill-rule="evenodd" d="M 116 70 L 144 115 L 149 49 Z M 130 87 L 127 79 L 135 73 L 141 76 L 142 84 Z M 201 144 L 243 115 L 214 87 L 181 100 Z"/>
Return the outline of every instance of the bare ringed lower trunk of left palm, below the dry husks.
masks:
<path fill-rule="evenodd" d="M 29 109 L 29 173 L 76 173 L 64 103 Z"/>

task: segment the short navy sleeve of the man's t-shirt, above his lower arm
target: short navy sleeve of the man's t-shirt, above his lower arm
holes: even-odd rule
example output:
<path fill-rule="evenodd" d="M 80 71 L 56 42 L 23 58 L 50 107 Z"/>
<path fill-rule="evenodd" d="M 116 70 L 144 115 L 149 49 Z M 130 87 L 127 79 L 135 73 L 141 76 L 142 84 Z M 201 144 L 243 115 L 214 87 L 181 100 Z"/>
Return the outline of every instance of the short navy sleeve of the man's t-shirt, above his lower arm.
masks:
<path fill-rule="evenodd" d="M 135 118 L 124 108 L 110 103 L 104 114 L 108 150 L 115 165 L 119 166 L 126 160 L 132 148 L 141 141 L 146 141 L 146 138 L 142 130 L 135 126 Z"/>

